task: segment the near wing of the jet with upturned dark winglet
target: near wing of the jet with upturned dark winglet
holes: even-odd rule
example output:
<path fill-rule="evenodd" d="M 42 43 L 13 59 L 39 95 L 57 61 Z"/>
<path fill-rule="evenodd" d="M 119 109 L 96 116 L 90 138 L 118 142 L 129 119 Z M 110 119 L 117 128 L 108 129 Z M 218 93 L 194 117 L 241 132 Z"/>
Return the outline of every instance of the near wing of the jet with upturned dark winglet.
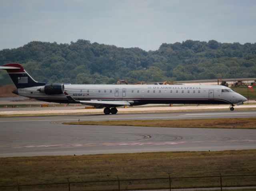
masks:
<path fill-rule="evenodd" d="M 64 94 L 66 95 L 66 97 L 68 98 L 69 101 L 72 102 L 77 102 L 77 103 L 81 103 L 83 105 L 90 105 L 90 106 L 94 106 L 96 108 L 104 108 L 104 107 L 117 107 L 117 106 L 130 106 L 131 104 L 134 103 L 134 101 L 131 100 L 111 100 L 111 101 L 106 101 L 106 100 L 86 100 L 86 101 L 82 101 L 82 100 L 75 100 L 74 98 L 72 98 L 70 95 L 68 95 L 68 93 L 64 92 Z"/>

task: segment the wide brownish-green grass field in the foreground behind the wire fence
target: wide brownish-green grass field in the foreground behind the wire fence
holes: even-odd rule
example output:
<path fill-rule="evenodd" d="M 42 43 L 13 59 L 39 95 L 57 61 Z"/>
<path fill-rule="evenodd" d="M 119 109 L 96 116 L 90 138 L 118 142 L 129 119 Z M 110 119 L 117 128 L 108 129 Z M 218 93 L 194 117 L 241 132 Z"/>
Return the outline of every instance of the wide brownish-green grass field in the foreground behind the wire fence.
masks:
<path fill-rule="evenodd" d="M 84 156 L 0 158 L 0 185 L 60 183 L 142 178 L 256 174 L 256 150 L 222 152 L 154 152 Z M 223 177 L 223 186 L 255 185 L 253 177 Z M 74 190 L 117 190 L 117 182 L 72 185 Z M 122 181 L 121 189 L 164 189 L 168 179 Z M 172 187 L 218 186 L 219 178 L 173 179 Z M 84 189 L 86 187 L 86 189 Z M 68 190 L 55 185 L 48 190 Z M 24 190 L 45 190 L 26 187 Z M 1 189 L 2 190 L 2 189 Z M 7 190 L 7 189 L 6 189 Z M 16 190 L 16 189 L 15 189 Z"/>

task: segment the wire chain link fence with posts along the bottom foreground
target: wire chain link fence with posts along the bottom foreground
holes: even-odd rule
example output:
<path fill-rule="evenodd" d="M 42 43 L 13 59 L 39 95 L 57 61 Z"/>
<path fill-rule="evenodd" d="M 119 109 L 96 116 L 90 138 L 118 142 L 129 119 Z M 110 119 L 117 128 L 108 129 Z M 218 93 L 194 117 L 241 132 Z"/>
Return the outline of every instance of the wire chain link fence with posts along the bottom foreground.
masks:
<path fill-rule="evenodd" d="M 226 187 L 254 187 L 256 189 L 256 175 L 214 175 L 196 177 L 172 177 L 170 174 L 162 178 L 120 179 L 98 181 L 70 181 L 1 185 L 1 191 L 125 191 L 143 189 L 185 189 L 185 188 L 216 188 L 222 191 Z"/>

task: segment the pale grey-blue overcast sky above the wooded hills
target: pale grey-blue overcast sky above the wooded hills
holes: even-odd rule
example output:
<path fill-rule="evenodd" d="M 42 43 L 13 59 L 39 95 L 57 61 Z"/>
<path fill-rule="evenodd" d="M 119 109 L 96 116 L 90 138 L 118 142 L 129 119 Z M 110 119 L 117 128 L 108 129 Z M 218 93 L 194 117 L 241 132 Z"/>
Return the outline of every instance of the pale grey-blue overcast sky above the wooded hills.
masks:
<path fill-rule="evenodd" d="M 0 0 L 0 50 L 86 39 L 156 50 L 187 39 L 256 42 L 256 0 Z"/>

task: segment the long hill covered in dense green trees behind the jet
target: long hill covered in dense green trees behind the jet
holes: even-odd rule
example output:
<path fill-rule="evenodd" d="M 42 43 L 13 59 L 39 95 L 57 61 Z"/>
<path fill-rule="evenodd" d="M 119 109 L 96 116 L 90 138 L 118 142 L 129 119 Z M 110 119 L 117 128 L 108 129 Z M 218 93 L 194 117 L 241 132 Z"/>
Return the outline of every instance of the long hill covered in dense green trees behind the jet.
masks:
<path fill-rule="evenodd" d="M 144 51 L 82 39 L 70 44 L 32 41 L 0 51 L 0 65 L 7 63 L 22 64 L 35 80 L 46 83 L 249 78 L 256 77 L 256 43 L 186 40 Z M 0 85 L 11 83 L 6 71 L 0 71 Z"/>

